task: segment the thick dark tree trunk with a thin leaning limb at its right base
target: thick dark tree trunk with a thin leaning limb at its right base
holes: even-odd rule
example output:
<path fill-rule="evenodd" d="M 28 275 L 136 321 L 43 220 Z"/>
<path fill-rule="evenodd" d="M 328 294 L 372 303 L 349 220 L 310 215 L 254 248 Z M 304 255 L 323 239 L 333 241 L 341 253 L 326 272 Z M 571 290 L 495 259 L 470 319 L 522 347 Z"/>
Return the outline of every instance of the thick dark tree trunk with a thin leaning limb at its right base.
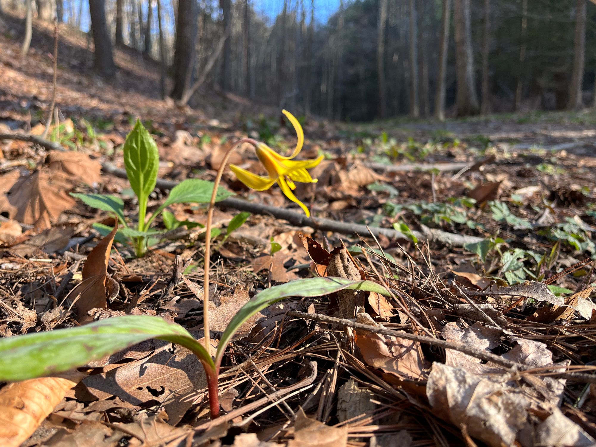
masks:
<path fill-rule="evenodd" d="M 197 42 L 197 0 L 178 0 L 176 45 L 174 53 L 174 88 L 172 98 L 183 97 L 193 82 L 195 43 Z"/>

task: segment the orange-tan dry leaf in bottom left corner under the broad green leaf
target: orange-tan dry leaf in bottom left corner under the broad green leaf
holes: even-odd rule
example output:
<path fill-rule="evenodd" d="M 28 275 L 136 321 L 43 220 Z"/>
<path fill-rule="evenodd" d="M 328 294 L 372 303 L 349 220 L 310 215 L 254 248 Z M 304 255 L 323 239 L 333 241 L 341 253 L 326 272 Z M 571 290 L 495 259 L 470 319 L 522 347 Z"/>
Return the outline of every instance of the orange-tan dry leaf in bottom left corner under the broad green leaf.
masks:
<path fill-rule="evenodd" d="M 18 447 L 85 377 L 82 373 L 41 377 L 8 384 L 0 390 L 0 445 Z"/>

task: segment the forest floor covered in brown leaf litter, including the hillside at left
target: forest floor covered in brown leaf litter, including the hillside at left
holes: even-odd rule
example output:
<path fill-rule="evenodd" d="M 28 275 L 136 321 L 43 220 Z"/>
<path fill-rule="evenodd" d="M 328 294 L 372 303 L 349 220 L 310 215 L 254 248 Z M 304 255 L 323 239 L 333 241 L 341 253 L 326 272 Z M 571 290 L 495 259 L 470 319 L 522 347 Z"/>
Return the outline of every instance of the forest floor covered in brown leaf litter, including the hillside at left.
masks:
<path fill-rule="evenodd" d="M 0 134 L 41 135 L 52 29 L 35 24 L 26 59 L 21 32 L 0 36 Z M 182 109 L 160 100 L 159 64 L 129 49 L 116 49 L 119 73 L 105 82 L 89 69 L 86 36 L 60 36 L 58 124 L 46 139 L 65 151 L 0 140 L 0 333 L 75 327 L 89 310 L 158 315 L 201 337 L 206 205 L 170 205 L 144 257 L 126 240 L 104 250 L 115 287 L 103 285 L 98 301 L 77 285 L 114 218 L 69 193 L 115 195 L 134 221 L 128 180 L 102 163 L 124 166 L 137 117 L 159 148 L 159 177 L 174 182 L 212 181 L 245 136 L 287 153 L 294 131 L 280 111 L 234 95 L 210 92 Z M 596 114 L 302 124 L 300 156 L 324 155 L 311 170 L 318 183 L 296 189 L 315 219 L 296 227 L 253 212 L 232 232 L 238 211 L 216 209 L 213 338 L 258 291 L 299 278 L 367 278 L 392 296 L 293 295 L 263 309 L 226 350 L 219 424 L 209 423 L 195 356 L 150 340 L 79 368 L 23 445 L 592 445 Z M 250 147 L 231 162 L 264 173 Z M 277 186 L 248 191 L 230 170 L 223 186 L 263 210 L 302 214 Z M 166 197 L 151 193 L 150 212 Z M 320 218 L 388 230 L 322 230 Z M 396 332 L 381 335 L 381 325 Z"/>

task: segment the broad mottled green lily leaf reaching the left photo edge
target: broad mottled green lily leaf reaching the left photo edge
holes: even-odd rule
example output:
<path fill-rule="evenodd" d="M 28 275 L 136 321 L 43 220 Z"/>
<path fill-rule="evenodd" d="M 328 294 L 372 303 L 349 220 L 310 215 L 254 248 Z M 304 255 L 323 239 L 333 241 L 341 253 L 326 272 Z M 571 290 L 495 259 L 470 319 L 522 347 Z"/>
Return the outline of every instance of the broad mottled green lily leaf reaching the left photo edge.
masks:
<path fill-rule="evenodd" d="M 206 368 L 215 368 L 203 344 L 182 326 L 159 316 L 125 315 L 80 327 L 0 339 L 0 381 L 61 373 L 148 339 L 181 344 Z"/>

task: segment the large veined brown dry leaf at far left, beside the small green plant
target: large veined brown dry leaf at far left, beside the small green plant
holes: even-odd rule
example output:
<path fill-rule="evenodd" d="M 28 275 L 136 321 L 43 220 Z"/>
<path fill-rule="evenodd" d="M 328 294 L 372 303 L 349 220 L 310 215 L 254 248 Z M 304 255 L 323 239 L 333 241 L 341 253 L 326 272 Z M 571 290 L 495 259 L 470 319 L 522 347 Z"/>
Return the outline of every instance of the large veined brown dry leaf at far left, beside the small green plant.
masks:
<path fill-rule="evenodd" d="M 49 228 L 60 213 L 75 204 L 66 194 L 70 187 L 66 175 L 46 170 L 19 179 L 7 193 L 8 201 L 16 208 L 13 218 L 38 229 Z"/>

